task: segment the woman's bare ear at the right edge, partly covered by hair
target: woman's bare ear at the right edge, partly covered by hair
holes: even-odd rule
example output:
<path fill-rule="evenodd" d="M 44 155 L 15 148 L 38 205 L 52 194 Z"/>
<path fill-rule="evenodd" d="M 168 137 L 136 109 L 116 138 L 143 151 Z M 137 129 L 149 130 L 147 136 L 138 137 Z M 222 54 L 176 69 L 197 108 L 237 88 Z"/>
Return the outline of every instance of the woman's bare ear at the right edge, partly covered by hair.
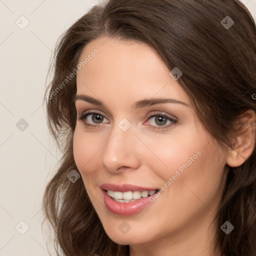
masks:
<path fill-rule="evenodd" d="M 230 167 L 242 165 L 249 158 L 255 147 L 256 114 L 252 109 L 245 111 L 239 118 L 244 123 L 235 138 L 235 143 L 228 150 L 226 163 Z"/>

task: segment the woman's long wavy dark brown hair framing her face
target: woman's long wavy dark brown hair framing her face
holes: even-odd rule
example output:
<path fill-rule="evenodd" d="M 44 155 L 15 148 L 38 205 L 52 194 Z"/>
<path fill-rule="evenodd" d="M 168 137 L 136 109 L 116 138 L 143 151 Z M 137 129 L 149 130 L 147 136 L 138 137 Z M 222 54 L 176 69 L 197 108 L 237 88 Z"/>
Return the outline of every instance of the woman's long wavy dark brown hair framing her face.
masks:
<path fill-rule="evenodd" d="M 221 24 L 226 16 L 234 21 L 229 29 Z M 238 0 L 108 0 L 93 6 L 59 38 L 44 95 L 47 124 L 62 152 L 43 196 L 43 222 L 54 230 L 57 255 L 59 249 L 69 256 L 129 254 L 129 245 L 107 236 L 82 179 L 73 183 L 66 177 L 72 169 L 79 172 L 72 150 L 76 75 L 66 77 L 74 73 L 85 45 L 101 37 L 145 43 L 169 70 L 178 67 L 183 74 L 177 81 L 199 120 L 223 146 L 231 146 L 238 134 L 239 116 L 256 112 L 256 25 Z M 225 169 L 212 242 L 226 256 L 255 256 L 255 147 L 242 165 Z M 226 220 L 234 226 L 229 234 L 220 229 Z"/>

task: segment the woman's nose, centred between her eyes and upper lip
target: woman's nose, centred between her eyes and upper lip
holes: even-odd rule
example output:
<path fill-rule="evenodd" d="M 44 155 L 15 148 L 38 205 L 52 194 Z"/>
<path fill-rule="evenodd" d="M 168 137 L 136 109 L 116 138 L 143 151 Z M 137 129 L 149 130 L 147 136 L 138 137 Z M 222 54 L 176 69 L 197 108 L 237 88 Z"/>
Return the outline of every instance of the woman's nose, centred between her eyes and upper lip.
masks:
<path fill-rule="evenodd" d="M 102 148 L 101 164 L 112 173 L 137 169 L 140 164 L 139 146 L 132 126 L 123 131 L 115 125 Z"/>

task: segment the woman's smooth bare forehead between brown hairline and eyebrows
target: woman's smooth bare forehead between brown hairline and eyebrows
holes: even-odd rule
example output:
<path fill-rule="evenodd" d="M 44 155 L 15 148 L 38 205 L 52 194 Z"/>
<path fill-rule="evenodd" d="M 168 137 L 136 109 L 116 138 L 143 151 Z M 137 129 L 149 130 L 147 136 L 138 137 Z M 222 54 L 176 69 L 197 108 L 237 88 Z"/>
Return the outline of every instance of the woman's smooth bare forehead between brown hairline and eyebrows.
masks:
<path fill-rule="evenodd" d="M 125 95 L 126 99 L 157 94 L 189 102 L 162 59 L 142 42 L 98 38 L 84 47 L 78 63 L 83 65 L 77 74 L 77 93 L 93 91 L 98 96 Z"/>

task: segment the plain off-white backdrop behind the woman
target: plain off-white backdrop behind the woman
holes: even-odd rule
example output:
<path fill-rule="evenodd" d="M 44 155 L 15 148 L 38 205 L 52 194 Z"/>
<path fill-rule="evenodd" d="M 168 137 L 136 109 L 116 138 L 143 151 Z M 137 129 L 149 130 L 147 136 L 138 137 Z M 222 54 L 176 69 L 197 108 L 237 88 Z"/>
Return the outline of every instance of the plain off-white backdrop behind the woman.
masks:
<path fill-rule="evenodd" d="M 99 2 L 0 0 L 0 256 L 49 255 L 41 201 L 60 154 L 42 105 L 46 75 L 57 38 Z M 242 2 L 256 19 L 256 0 Z"/>

